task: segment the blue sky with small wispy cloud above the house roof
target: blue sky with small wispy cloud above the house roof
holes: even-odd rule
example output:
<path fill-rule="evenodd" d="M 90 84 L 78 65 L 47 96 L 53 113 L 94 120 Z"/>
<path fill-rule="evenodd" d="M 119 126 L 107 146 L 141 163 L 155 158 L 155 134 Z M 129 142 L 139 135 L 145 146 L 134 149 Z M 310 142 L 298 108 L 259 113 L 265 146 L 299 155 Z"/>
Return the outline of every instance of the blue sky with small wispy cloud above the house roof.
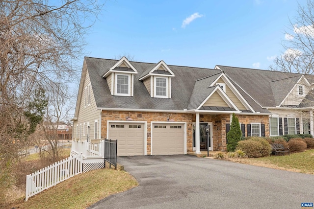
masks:
<path fill-rule="evenodd" d="M 85 56 L 267 70 L 306 0 L 107 0 Z"/>

